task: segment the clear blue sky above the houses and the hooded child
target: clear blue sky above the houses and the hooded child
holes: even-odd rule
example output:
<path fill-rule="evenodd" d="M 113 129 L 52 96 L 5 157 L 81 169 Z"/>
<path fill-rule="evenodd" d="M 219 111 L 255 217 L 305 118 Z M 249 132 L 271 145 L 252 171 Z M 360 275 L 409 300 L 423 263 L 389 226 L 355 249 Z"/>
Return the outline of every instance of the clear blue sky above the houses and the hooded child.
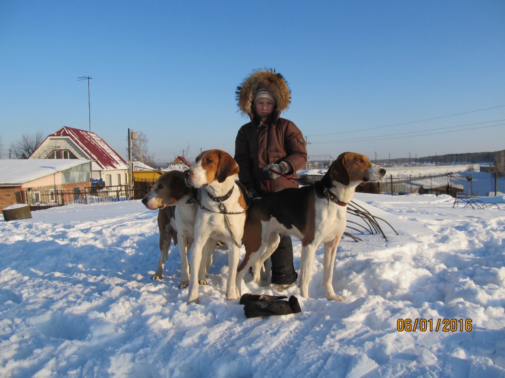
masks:
<path fill-rule="evenodd" d="M 0 0 L 0 137 L 88 130 L 89 75 L 91 130 L 123 156 L 128 128 L 163 162 L 233 154 L 236 86 L 275 68 L 310 155 L 501 150 L 504 20 L 501 0 Z"/>

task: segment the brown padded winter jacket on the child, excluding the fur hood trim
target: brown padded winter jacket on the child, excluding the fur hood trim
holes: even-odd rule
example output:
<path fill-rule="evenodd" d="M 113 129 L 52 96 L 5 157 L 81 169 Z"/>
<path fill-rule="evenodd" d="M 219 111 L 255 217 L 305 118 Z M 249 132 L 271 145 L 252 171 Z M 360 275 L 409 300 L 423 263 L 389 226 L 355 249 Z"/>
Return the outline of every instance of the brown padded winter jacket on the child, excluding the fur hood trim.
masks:
<path fill-rule="evenodd" d="M 265 165 L 286 161 L 293 168 L 292 175 L 296 176 L 296 171 L 307 162 L 303 135 L 293 122 L 277 114 L 274 111 L 264 118 L 260 127 L 259 120 L 244 124 L 235 140 L 239 180 L 245 187 L 254 187 L 260 194 L 298 186 L 282 176 L 274 180 L 263 179 L 262 168 Z"/>

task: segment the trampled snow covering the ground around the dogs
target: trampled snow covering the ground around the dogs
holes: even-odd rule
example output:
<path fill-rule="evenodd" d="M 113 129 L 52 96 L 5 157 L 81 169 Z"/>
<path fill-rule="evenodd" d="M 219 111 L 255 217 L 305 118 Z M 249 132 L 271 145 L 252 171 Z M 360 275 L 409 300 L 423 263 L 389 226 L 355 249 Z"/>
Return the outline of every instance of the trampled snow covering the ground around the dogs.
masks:
<path fill-rule="evenodd" d="M 255 319 L 224 298 L 224 251 L 201 304 L 178 289 L 177 247 L 164 280 L 150 280 L 157 213 L 139 201 L 0 221 L 0 376 L 505 376 L 504 213 L 452 208 L 447 196 L 357 199 L 399 235 L 383 224 L 388 241 L 341 242 L 334 287 L 345 302 L 324 299 L 319 248 L 312 298 L 287 290 L 303 312 Z"/>

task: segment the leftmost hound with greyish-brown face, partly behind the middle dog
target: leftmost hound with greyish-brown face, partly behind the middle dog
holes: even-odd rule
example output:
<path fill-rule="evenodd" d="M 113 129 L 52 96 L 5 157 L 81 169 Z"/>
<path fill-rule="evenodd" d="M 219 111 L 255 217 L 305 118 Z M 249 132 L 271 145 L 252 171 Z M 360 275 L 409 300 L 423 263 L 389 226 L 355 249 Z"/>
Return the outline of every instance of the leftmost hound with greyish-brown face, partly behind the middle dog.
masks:
<path fill-rule="evenodd" d="M 189 265 L 187 260 L 188 241 L 194 236 L 194 221 L 196 219 L 197 206 L 192 202 L 194 188 L 186 185 L 184 173 L 170 171 L 162 174 L 153 190 L 145 196 L 142 203 L 150 210 L 158 211 L 158 228 L 160 229 L 160 261 L 158 269 L 151 279 L 161 280 L 163 268 L 167 260 L 168 250 L 172 239 L 179 244 L 181 259 L 181 281 L 179 288 L 189 285 Z M 207 284 L 206 274 L 212 263 L 212 246 L 204 251 L 207 264 L 201 264 L 198 273 L 200 284 Z M 208 256 L 208 257 L 207 257 Z"/>

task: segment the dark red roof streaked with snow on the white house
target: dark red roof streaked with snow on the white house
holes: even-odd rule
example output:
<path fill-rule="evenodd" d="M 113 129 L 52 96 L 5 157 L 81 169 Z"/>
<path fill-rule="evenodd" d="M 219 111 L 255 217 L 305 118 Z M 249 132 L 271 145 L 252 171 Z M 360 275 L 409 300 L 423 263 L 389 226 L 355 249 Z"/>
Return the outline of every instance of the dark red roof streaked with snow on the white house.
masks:
<path fill-rule="evenodd" d="M 125 169 L 128 163 L 109 144 L 95 133 L 63 127 L 49 135 L 51 137 L 69 137 L 79 148 L 103 169 Z"/>

